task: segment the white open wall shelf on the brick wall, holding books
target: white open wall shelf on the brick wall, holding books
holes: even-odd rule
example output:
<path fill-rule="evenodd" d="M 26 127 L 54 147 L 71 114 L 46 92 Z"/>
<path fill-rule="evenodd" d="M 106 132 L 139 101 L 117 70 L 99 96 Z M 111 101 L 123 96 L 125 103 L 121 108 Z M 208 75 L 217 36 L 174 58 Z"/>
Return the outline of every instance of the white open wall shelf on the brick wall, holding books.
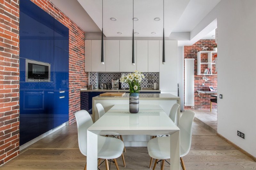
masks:
<path fill-rule="evenodd" d="M 207 61 L 206 62 L 202 62 L 201 63 L 201 54 L 207 53 Z M 204 73 L 204 70 L 201 70 L 201 65 L 205 67 L 205 65 L 207 64 L 207 68 L 209 68 L 212 71 L 215 72 L 215 69 L 212 70 L 214 67 L 213 65 L 215 65 L 215 63 L 212 63 L 212 55 L 213 54 L 217 54 L 217 51 L 198 51 L 197 52 L 197 75 L 203 75 L 203 76 L 207 76 L 207 75 L 217 75 L 217 74 L 202 74 Z"/>

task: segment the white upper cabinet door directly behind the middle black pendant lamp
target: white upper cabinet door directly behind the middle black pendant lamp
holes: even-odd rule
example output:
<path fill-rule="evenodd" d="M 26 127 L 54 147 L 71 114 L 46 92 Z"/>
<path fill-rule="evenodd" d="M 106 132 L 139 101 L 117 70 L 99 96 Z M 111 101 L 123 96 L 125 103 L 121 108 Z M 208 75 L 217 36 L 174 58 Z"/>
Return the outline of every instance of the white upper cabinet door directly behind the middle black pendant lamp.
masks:
<path fill-rule="evenodd" d="M 137 70 L 136 41 L 134 41 L 134 60 L 132 65 L 132 40 L 120 40 L 120 72 Z"/>

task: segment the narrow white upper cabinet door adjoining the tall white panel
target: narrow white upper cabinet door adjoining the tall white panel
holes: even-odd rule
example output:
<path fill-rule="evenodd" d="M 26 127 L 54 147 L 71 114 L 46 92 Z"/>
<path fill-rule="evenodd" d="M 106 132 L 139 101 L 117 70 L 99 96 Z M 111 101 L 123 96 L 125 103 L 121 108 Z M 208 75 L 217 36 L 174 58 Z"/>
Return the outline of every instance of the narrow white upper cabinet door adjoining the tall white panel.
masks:
<path fill-rule="evenodd" d="M 148 72 L 159 72 L 159 40 L 148 41 Z"/>

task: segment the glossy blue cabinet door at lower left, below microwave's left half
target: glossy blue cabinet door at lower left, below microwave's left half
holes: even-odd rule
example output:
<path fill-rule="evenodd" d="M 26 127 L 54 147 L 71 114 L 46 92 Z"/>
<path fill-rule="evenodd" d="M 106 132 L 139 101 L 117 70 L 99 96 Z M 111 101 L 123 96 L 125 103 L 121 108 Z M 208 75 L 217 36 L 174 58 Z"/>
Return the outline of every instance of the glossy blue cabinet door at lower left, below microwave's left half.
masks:
<path fill-rule="evenodd" d="M 39 83 L 20 82 L 20 145 L 38 137 Z"/>

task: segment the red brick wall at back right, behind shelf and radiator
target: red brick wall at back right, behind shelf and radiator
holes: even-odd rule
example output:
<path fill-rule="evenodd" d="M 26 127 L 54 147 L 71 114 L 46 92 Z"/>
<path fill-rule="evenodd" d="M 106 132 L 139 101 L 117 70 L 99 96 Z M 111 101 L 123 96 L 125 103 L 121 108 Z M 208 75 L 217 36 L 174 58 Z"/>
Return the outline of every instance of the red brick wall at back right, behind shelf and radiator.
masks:
<path fill-rule="evenodd" d="M 208 90 L 209 86 L 213 86 L 217 90 L 217 75 L 212 76 L 205 76 L 209 78 L 208 81 L 204 81 L 202 77 L 203 75 L 197 75 L 197 52 L 202 51 L 202 47 L 208 47 L 207 51 L 212 51 L 212 45 L 215 44 L 215 40 L 199 40 L 192 46 L 185 46 L 184 47 L 184 58 L 194 58 L 195 59 L 195 69 L 194 69 L 194 99 L 195 99 L 195 109 L 202 109 L 202 110 L 210 110 L 210 99 L 212 98 L 211 94 L 198 94 L 197 90 Z M 214 56 L 215 57 L 215 56 Z M 212 62 L 214 60 L 212 57 Z M 207 61 L 207 54 L 201 55 L 201 62 Z M 207 64 L 204 67 L 201 65 L 201 72 L 203 74 L 204 69 L 208 68 Z M 215 73 L 215 66 L 212 68 L 212 73 Z M 204 86 L 202 84 L 204 83 Z M 215 93 L 217 94 L 217 93 Z M 184 106 L 184 109 L 191 109 L 191 106 Z M 217 109 L 217 104 L 212 103 L 212 109 Z"/>

